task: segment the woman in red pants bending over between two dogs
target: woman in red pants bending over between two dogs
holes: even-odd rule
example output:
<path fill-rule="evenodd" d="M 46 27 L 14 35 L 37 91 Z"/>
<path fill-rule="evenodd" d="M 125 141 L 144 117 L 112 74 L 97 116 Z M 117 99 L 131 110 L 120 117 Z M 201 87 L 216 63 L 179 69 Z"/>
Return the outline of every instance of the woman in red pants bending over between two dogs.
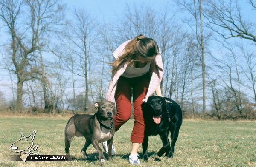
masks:
<path fill-rule="evenodd" d="M 131 117 L 131 97 L 134 107 L 134 127 L 131 133 L 129 162 L 140 164 L 138 149 L 144 138 L 144 119 L 141 105 L 154 91 L 162 96 L 160 82 L 163 78 L 163 62 L 157 42 L 138 35 L 120 45 L 113 52 L 112 76 L 106 100 L 116 101 L 114 116 L 116 131 Z M 105 147 L 104 147 L 105 145 Z M 106 144 L 103 144 L 107 150 Z M 113 152 L 113 150 L 112 150 Z"/>

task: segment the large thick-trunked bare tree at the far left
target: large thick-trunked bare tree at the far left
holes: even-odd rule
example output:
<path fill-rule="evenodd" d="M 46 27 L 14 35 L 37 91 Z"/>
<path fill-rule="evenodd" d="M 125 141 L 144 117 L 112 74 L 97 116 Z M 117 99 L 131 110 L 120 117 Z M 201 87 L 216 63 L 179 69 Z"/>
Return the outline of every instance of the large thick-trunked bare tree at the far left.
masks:
<path fill-rule="evenodd" d="M 47 45 L 49 32 L 55 31 L 55 25 L 61 23 L 64 8 L 58 0 L 3 0 L 0 7 L 0 18 L 11 38 L 9 46 L 14 65 L 11 71 L 17 75 L 16 106 L 21 110 L 23 83 L 39 79 L 38 74 L 41 74 L 35 51 L 42 50 Z M 27 16 L 22 18 L 24 20 L 20 19 L 23 9 Z"/>

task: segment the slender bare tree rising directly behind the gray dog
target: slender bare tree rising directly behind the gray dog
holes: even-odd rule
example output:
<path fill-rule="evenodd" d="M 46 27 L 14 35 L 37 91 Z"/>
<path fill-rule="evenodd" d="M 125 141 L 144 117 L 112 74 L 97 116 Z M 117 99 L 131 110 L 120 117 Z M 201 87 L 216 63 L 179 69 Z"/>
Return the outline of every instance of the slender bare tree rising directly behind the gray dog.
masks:
<path fill-rule="evenodd" d="M 96 24 L 93 19 L 83 10 L 74 11 L 75 21 L 70 24 L 70 29 L 73 31 L 73 37 L 69 40 L 72 42 L 72 54 L 75 61 L 75 70 L 73 72 L 84 79 L 85 99 L 84 111 L 87 111 L 89 104 L 91 70 L 90 59 L 92 59 L 92 49 L 98 38 L 98 33 L 95 30 Z"/>

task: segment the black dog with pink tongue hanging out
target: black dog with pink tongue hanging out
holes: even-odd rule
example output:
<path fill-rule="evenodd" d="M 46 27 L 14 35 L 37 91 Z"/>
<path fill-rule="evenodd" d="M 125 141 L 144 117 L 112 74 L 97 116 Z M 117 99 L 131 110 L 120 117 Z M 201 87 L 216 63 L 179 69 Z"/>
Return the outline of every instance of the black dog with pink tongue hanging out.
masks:
<path fill-rule="evenodd" d="M 142 110 L 145 120 L 145 137 L 142 144 L 143 159 L 148 160 L 148 136 L 158 134 L 163 142 L 163 147 L 157 155 L 161 157 L 166 153 L 167 157 L 173 157 L 174 146 L 182 124 L 180 105 L 166 97 L 150 96 L 148 101 L 142 104 Z M 170 131 L 171 147 L 168 139 Z"/>

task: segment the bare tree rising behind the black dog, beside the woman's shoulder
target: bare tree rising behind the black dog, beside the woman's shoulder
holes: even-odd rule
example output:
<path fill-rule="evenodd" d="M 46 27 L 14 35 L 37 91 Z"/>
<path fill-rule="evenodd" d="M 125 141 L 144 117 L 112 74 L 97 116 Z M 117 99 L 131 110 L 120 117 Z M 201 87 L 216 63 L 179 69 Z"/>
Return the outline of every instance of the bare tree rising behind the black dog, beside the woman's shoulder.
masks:
<path fill-rule="evenodd" d="M 168 11 L 163 11 L 162 16 L 159 19 L 157 35 L 165 68 L 161 88 L 163 95 L 171 98 L 177 86 L 175 80 L 177 77 L 177 57 L 182 50 L 186 33 L 182 31 L 180 25 L 174 24 L 175 17 L 169 16 Z"/>

